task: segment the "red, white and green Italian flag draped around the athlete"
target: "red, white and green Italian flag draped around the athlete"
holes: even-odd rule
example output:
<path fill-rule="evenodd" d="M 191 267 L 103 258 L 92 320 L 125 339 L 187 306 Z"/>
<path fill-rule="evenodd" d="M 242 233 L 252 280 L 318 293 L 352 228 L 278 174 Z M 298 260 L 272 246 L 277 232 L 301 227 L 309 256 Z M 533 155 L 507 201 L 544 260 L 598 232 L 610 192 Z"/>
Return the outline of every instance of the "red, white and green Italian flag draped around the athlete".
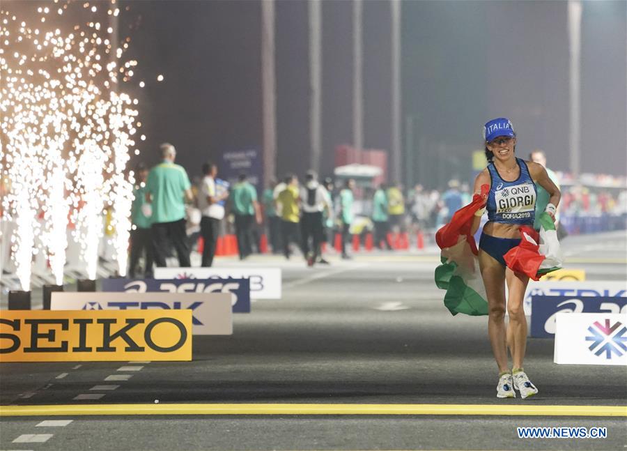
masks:
<path fill-rule="evenodd" d="M 454 315 L 488 314 L 486 288 L 477 259 L 479 251 L 474 236 L 470 234 L 470 227 L 474 213 L 486 204 L 489 190 L 489 185 L 482 185 L 481 194 L 474 194 L 472 202 L 456 211 L 451 222 L 435 234 L 435 241 L 442 250 L 442 264 L 435 268 L 435 284 L 447 291 L 444 305 Z M 540 220 L 540 233 L 532 227 L 521 227 L 520 245 L 504 256 L 509 268 L 534 280 L 562 266 L 555 225 L 548 213 L 543 213 Z"/>

